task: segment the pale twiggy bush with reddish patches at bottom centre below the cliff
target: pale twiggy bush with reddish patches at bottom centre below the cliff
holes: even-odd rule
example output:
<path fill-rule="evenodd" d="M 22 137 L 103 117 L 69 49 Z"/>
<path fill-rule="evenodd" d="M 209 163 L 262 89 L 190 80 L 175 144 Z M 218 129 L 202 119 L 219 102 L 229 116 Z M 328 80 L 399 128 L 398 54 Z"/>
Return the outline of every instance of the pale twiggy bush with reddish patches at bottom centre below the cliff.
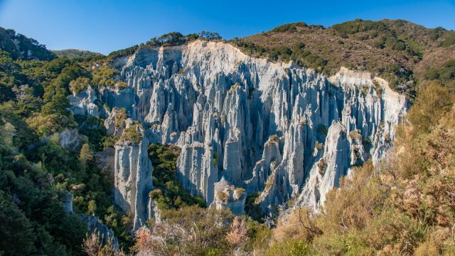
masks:
<path fill-rule="evenodd" d="M 264 252 L 269 230 L 229 210 L 186 206 L 168 210 L 151 229 L 137 233 L 134 249 L 149 255 L 245 255 Z"/>

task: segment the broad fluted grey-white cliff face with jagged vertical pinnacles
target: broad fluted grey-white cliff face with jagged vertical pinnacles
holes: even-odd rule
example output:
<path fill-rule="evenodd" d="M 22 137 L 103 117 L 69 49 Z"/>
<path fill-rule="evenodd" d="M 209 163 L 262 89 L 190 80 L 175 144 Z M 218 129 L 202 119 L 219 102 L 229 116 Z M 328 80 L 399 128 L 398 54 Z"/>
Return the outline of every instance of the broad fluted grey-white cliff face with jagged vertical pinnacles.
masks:
<path fill-rule="evenodd" d="M 181 146 L 178 178 L 208 205 L 224 176 L 261 193 L 267 213 L 290 198 L 316 207 L 348 169 L 385 154 L 407 109 L 405 97 L 368 73 L 342 68 L 328 79 L 222 42 L 143 47 L 114 65 L 128 87 L 100 98 L 144 124 L 150 142 Z M 145 144 L 116 146 L 119 190 L 129 182 L 120 174 L 141 172 L 133 166 Z"/>

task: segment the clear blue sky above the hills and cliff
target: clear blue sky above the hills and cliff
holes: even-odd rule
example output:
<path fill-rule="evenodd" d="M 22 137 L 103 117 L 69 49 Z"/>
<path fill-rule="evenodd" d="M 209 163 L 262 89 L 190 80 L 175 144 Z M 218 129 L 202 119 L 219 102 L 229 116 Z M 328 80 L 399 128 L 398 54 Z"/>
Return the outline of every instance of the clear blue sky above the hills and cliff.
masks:
<path fill-rule="evenodd" d="M 455 29 L 455 0 L 0 0 L 1 27 L 35 38 L 49 49 L 105 54 L 171 31 L 216 31 L 230 39 L 283 23 L 331 26 L 355 18 L 402 18 L 429 28 Z"/>

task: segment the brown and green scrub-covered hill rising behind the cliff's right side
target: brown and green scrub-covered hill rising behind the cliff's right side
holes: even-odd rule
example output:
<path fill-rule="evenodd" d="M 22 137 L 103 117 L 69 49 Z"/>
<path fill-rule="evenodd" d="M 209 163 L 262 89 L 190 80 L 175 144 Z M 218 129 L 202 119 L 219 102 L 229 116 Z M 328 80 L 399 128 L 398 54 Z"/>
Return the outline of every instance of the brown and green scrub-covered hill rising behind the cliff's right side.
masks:
<path fill-rule="evenodd" d="M 289 23 L 272 31 L 232 40 L 253 56 L 294 60 L 326 74 L 340 67 L 380 75 L 395 90 L 413 98 L 417 80 L 432 80 L 432 69 L 451 65 L 455 31 L 424 28 L 403 20 L 347 21 L 328 28 Z M 453 79 L 453 70 L 441 78 Z M 444 78 L 443 78 L 444 77 Z"/>

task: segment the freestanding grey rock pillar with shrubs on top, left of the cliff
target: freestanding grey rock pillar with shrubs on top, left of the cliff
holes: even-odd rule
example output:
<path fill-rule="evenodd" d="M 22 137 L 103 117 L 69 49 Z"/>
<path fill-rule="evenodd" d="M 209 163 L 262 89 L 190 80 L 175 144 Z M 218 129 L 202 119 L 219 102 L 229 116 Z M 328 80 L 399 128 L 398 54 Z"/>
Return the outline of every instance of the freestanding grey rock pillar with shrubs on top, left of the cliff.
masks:
<path fill-rule="evenodd" d="M 134 229 L 149 217 L 149 192 L 153 167 L 147 154 L 149 142 L 141 124 L 127 120 L 122 137 L 115 145 L 114 201 L 132 216 Z"/>

